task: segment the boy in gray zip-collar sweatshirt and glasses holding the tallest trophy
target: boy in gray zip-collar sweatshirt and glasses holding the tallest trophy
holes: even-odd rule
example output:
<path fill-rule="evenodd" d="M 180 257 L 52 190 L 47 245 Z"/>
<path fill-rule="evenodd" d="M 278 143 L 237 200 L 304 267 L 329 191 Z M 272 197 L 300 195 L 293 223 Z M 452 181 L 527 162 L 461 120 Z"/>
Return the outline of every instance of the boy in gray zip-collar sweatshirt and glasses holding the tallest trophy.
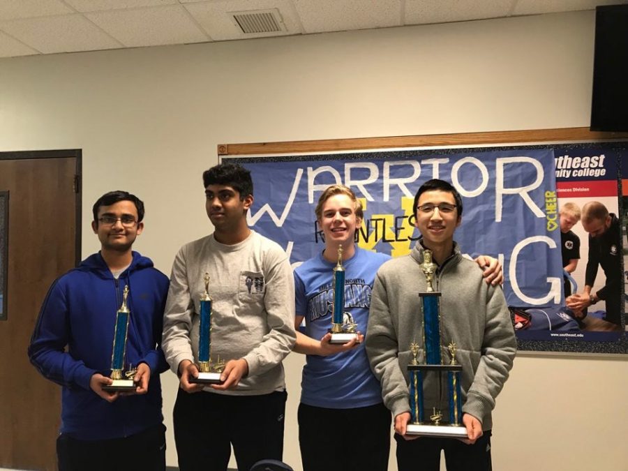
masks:
<path fill-rule="evenodd" d="M 477 265 L 461 255 L 454 241 L 463 211 L 456 188 L 438 179 L 427 181 L 414 196 L 414 211 L 422 237 L 410 255 L 389 260 L 377 271 L 366 334 L 371 368 L 394 417 L 398 469 L 438 471 L 444 450 L 449 471 L 490 471 L 491 411 L 516 352 L 506 299 L 501 287 L 483 283 Z M 426 292 L 427 282 L 419 264 L 425 249 L 432 251 L 438 265 L 432 283 L 442 293 L 441 345 L 455 342 L 456 361 L 462 365 L 462 423 L 468 435 L 464 440 L 413 440 L 417 437 L 406 435 L 410 344 L 417 342 L 419 358 L 424 356 L 419 293 Z M 425 376 L 425 408 L 438 407 L 447 414 L 438 381 L 438 375 Z"/>

